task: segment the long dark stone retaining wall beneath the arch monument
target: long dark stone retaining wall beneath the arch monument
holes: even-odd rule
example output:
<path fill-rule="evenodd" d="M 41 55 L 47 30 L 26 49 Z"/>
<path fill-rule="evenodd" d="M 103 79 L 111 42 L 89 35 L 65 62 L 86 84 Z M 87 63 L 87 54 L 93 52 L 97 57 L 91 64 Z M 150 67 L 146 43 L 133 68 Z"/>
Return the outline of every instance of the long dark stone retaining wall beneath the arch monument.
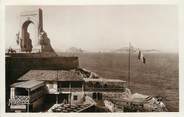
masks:
<path fill-rule="evenodd" d="M 6 80 L 14 82 L 30 69 L 69 70 L 78 68 L 78 57 L 6 57 Z"/>

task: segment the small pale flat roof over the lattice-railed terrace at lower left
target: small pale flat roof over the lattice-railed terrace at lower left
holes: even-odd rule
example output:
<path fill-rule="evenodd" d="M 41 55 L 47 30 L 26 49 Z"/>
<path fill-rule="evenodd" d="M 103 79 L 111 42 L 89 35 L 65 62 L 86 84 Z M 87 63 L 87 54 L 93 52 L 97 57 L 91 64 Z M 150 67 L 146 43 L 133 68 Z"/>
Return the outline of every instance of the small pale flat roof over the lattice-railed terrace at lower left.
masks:
<path fill-rule="evenodd" d="M 29 80 L 29 81 L 14 83 L 11 85 L 11 87 L 34 90 L 43 85 L 44 85 L 44 81 Z"/>

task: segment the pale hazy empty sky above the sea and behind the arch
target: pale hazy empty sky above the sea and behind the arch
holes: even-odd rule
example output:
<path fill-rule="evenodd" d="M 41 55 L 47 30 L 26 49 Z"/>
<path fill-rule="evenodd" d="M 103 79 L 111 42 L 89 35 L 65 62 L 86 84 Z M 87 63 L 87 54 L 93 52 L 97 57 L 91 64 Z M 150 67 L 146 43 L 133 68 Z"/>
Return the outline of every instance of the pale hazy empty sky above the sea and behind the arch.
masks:
<path fill-rule="evenodd" d="M 17 47 L 20 13 L 41 8 L 43 28 L 56 51 L 70 47 L 106 51 L 128 46 L 178 52 L 178 18 L 175 5 L 112 6 L 7 6 L 6 48 Z M 34 43 L 35 26 L 28 31 Z"/>

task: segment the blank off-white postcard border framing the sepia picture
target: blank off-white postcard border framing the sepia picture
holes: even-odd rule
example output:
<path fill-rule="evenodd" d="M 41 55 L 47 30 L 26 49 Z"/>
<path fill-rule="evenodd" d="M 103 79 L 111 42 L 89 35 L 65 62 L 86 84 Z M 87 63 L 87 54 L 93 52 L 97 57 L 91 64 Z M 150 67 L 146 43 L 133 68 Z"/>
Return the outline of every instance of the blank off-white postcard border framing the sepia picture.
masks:
<path fill-rule="evenodd" d="M 17 117 L 17 116 L 107 116 L 107 117 L 182 117 L 184 116 L 184 0 L 2 0 L 0 7 L 0 113 L 2 117 Z M 127 5 L 127 4 L 175 4 L 178 5 L 179 19 L 179 111 L 167 113 L 5 113 L 5 6 L 9 5 Z"/>

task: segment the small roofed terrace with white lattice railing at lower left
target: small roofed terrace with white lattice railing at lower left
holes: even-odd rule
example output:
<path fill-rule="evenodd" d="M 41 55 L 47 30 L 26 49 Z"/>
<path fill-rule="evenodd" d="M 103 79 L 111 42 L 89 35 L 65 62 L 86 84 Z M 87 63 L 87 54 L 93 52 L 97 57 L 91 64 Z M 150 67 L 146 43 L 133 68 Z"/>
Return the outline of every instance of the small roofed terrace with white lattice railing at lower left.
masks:
<path fill-rule="evenodd" d="M 31 103 L 44 95 L 44 82 L 31 80 L 14 83 L 11 85 L 10 95 L 11 109 L 26 110 Z"/>

